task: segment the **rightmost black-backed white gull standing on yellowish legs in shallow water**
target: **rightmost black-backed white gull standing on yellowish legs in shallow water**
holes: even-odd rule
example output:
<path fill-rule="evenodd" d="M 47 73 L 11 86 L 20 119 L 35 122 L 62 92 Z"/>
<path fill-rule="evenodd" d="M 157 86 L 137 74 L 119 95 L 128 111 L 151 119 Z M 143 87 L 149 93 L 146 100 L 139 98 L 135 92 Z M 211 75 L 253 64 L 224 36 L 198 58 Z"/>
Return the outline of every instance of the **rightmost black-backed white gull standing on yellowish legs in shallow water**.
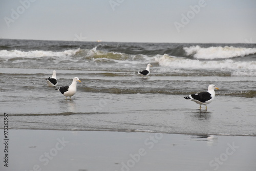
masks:
<path fill-rule="evenodd" d="M 186 100 L 195 101 L 196 103 L 200 104 L 200 110 L 201 110 L 201 105 L 202 104 L 205 105 L 205 110 L 207 111 L 207 105 L 206 104 L 209 104 L 215 98 L 214 89 L 219 90 L 219 88 L 215 87 L 214 84 L 210 84 L 210 86 L 208 87 L 207 92 L 191 94 L 189 96 L 185 96 L 184 98 Z"/>

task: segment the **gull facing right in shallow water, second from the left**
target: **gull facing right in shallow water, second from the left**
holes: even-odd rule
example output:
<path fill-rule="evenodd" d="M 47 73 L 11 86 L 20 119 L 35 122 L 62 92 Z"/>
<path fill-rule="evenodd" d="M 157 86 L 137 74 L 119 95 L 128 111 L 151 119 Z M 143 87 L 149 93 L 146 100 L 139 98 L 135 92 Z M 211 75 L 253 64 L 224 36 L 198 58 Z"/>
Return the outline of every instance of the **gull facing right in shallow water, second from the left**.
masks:
<path fill-rule="evenodd" d="M 66 96 L 66 100 L 67 100 L 68 96 L 70 97 L 70 100 L 71 100 L 71 96 L 74 96 L 76 94 L 76 82 L 77 81 L 81 82 L 79 80 L 79 78 L 75 77 L 75 78 L 73 78 L 73 81 L 70 86 L 61 86 L 55 90 L 60 91 L 60 93 L 62 93 L 64 96 Z"/>

